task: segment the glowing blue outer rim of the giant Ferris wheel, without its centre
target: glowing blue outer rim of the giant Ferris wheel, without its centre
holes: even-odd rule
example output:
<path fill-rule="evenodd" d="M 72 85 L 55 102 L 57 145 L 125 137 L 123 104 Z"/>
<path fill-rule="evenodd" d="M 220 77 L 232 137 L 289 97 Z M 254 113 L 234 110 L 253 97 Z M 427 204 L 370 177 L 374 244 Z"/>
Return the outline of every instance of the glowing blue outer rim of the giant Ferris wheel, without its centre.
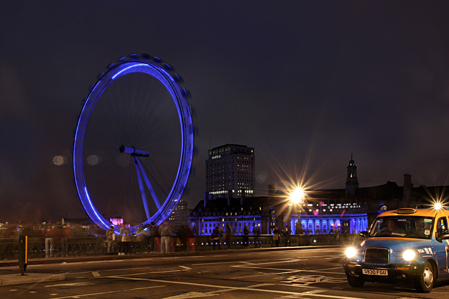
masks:
<path fill-rule="evenodd" d="M 130 57 L 122 57 L 120 58 L 119 63 L 111 64 L 107 72 L 101 73 L 99 76 L 100 79 L 92 86 L 88 97 L 84 100 L 83 108 L 81 109 L 76 125 L 73 143 L 74 181 L 79 200 L 88 214 L 88 217 L 102 229 L 109 229 L 111 223 L 97 211 L 95 205 L 92 203 L 88 187 L 86 186 L 83 170 L 84 138 L 90 115 L 97 100 L 114 80 L 117 80 L 124 75 L 141 73 L 158 79 L 172 96 L 178 112 L 181 128 L 180 162 L 172 189 L 168 193 L 164 203 L 161 204 L 161 208 L 159 208 L 149 219 L 141 222 L 140 225 L 145 225 L 153 221 L 156 225 L 159 225 L 164 221 L 172 213 L 186 188 L 194 153 L 194 124 L 190 106 L 187 101 L 189 91 L 180 87 L 178 83 L 180 77 L 177 74 L 172 75 L 170 73 L 171 69 L 172 67 L 170 65 L 163 63 L 158 57 L 151 57 L 148 55 L 137 56 L 135 54 Z M 136 227 L 137 226 L 131 227 L 131 230 L 134 231 Z M 118 231 L 118 227 L 115 227 L 115 230 Z"/>

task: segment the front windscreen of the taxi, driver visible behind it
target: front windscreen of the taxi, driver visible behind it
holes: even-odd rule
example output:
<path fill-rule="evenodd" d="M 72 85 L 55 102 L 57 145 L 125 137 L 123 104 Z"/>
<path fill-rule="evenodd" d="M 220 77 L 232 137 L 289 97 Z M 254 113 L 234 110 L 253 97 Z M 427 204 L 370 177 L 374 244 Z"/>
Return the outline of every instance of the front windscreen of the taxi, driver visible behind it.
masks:
<path fill-rule="evenodd" d="M 370 237 L 401 237 L 430 239 L 434 217 L 388 216 L 378 217 Z"/>

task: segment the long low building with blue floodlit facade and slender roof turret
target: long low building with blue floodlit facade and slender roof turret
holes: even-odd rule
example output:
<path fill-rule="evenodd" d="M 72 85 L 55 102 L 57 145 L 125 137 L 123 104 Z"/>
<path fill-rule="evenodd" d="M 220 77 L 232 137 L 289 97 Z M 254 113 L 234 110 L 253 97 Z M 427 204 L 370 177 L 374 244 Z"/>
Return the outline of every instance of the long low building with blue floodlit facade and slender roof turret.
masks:
<path fill-rule="evenodd" d="M 251 234 L 272 234 L 278 227 L 299 233 L 298 215 L 303 234 L 358 234 L 369 230 L 375 217 L 386 210 L 427 207 L 432 198 L 445 197 L 448 186 L 413 187 L 411 176 L 404 174 L 404 186 L 387 182 L 380 186 L 359 187 L 354 160 L 347 167 L 345 189 L 306 190 L 304 202 L 291 203 L 289 190 L 268 185 L 267 196 L 232 198 L 232 192 L 215 198 L 205 192 L 189 215 L 188 222 L 199 235 L 211 234 L 216 226 L 228 224 L 233 234 L 242 234 L 247 226 Z M 445 191 L 446 190 L 446 191 Z M 445 197 L 446 198 L 446 197 Z"/>

